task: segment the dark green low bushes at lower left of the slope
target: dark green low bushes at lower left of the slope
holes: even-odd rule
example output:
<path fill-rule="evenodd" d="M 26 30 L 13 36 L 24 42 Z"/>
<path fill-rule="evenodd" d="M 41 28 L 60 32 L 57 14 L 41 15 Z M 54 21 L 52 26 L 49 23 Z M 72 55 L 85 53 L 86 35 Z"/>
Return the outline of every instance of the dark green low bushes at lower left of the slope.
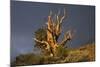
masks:
<path fill-rule="evenodd" d="M 41 64 L 42 61 L 43 58 L 40 55 L 24 54 L 17 56 L 16 60 L 12 63 L 12 66 Z"/>

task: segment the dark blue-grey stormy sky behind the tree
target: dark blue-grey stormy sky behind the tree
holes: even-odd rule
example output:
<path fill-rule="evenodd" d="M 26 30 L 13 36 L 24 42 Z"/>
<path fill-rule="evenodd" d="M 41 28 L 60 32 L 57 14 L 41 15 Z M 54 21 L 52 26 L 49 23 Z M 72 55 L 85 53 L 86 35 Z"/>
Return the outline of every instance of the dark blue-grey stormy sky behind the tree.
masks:
<path fill-rule="evenodd" d="M 65 4 L 47 4 L 35 2 L 11 2 L 11 57 L 33 52 L 34 32 L 47 22 L 49 11 L 58 10 L 63 14 L 66 8 L 68 18 L 63 21 L 63 33 L 75 30 L 69 47 L 75 48 L 95 40 L 95 7 Z"/>

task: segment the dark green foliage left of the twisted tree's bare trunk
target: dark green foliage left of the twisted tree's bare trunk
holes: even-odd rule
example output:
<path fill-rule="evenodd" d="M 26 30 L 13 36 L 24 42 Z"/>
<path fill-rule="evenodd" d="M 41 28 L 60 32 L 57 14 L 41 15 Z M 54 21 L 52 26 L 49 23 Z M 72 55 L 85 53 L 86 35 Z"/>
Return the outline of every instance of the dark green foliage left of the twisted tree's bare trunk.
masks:
<path fill-rule="evenodd" d="M 39 41 L 46 41 L 47 40 L 47 33 L 46 33 L 46 28 L 39 28 L 36 32 L 35 32 L 35 38 L 38 39 Z M 36 42 L 35 44 L 35 48 L 40 49 L 40 51 L 42 53 L 46 53 L 45 48 L 46 45 L 44 44 L 40 44 L 38 42 Z"/>

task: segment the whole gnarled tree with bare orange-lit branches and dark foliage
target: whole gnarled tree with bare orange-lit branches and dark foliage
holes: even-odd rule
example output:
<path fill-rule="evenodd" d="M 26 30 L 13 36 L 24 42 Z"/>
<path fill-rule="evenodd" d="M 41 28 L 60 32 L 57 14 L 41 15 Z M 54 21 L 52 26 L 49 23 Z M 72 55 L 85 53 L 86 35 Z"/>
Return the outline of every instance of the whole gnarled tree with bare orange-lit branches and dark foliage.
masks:
<path fill-rule="evenodd" d="M 66 18 L 66 11 L 64 9 L 63 16 L 60 16 L 60 11 L 58 11 L 58 15 L 55 15 L 55 20 L 51 15 L 52 11 L 50 11 L 50 15 L 48 16 L 46 29 L 39 29 L 38 32 L 36 32 L 36 37 L 34 38 L 34 40 L 39 44 L 39 46 L 45 46 L 45 48 L 40 48 L 44 49 L 44 51 L 50 51 L 50 56 L 56 56 L 57 47 L 60 45 L 64 46 L 66 42 L 71 40 L 72 34 L 71 31 L 67 31 L 64 35 L 63 40 L 58 43 L 58 38 L 62 32 L 62 22 Z"/>

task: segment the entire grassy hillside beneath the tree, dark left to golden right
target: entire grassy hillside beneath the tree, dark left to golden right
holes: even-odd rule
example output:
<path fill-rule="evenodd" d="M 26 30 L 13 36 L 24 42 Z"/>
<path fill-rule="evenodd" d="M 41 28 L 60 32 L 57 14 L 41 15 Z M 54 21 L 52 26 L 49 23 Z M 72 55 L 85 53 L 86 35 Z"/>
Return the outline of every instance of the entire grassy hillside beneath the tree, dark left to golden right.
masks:
<path fill-rule="evenodd" d="M 25 54 L 16 57 L 12 62 L 12 66 L 16 65 L 39 65 L 39 64 L 56 64 L 56 63 L 71 63 L 71 62 L 87 62 L 95 61 L 95 44 L 87 44 L 75 49 L 62 50 L 59 56 L 50 57 L 35 54 Z"/>

